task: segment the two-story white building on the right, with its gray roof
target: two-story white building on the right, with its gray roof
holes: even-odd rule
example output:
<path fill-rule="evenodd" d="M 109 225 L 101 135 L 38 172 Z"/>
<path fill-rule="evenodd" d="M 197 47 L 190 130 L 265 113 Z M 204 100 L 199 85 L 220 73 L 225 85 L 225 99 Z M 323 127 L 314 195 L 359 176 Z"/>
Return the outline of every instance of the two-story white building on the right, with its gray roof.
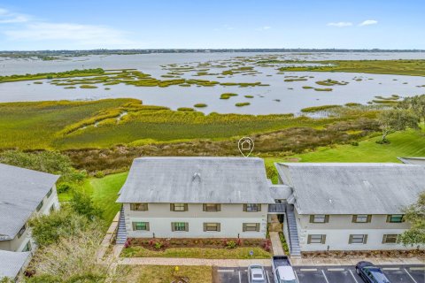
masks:
<path fill-rule="evenodd" d="M 425 191 L 425 166 L 275 164 L 287 200 L 284 233 L 303 251 L 417 249 L 398 243 L 409 228 L 403 208 Z"/>

